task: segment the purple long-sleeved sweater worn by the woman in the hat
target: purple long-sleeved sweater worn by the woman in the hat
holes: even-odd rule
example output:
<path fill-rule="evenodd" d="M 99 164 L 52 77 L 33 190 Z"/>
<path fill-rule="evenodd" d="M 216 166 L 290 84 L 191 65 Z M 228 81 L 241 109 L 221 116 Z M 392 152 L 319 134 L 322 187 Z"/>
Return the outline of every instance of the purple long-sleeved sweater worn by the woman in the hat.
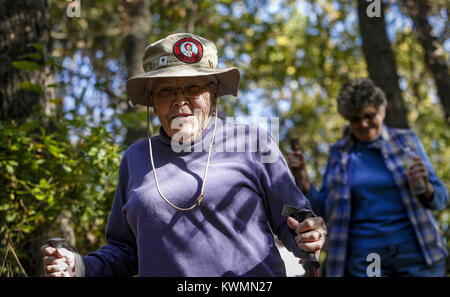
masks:
<path fill-rule="evenodd" d="M 272 232 L 301 256 L 281 211 L 285 203 L 310 209 L 309 202 L 269 134 L 261 137 L 248 125 L 218 122 L 204 199 L 187 212 L 159 196 L 148 140 L 128 148 L 106 230 L 108 243 L 82 256 L 86 276 L 285 276 Z M 152 137 L 161 191 L 178 207 L 191 206 L 200 194 L 212 126 L 213 120 L 203 131 L 201 152 L 174 152 L 162 129 Z M 244 136 L 245 151 L 237 148 Z M 257 150 L 249 139 L 257 140 Z M 224 152 L 229 141 L 235 150 Z M 264 159 L 268 154 L 272 162 Z"/>

